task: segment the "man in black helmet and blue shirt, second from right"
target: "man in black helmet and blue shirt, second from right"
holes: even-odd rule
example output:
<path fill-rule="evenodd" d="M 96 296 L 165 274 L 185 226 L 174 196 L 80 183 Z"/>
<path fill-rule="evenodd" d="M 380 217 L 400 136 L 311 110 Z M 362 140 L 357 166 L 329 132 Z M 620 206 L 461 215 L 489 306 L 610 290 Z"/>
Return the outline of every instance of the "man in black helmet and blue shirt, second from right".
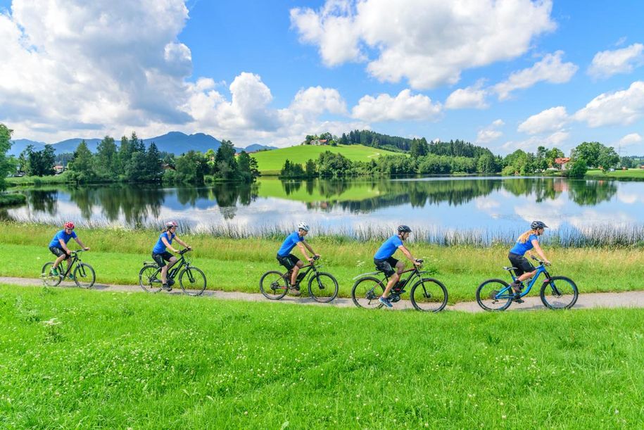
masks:
<path fill-rule="evenodd" d="M 393 308 L 393 305 L 389 301 L 389 291 L 391 291 L 391 288 L 396 285 L 396 282 L 398 282 L 398 280 L 400 279 L 400 273 L 405 270 L 405 263 L 396 260 L 396 258 L 393 258 L 393 253 L 395 253 L 396 250 L 400 249 L 400 251 L 405 254 L 405 257 L 409 258 L 412 263 L 417 266 L 421 264 L 412 257 L 412 253 L 410 253 L 409 250 L 403 245 L 403 241 L 408 239 L 411 232 L 412 229 L 410 229 L 408 226 L 399 225 L 398 233 L 394 234 L 389 239 L 384 241 L 384 244 L 380 246 L 380 248 L 374 255 L 374 264 L 376 265 L 376 269 L 384 272 L 384 274 L 389 277 L 389 282 L 387 282 L 384 293 L 382 293 L 382 296 L 378 299 L 378 301 L 385 305 L 387 308 Z M 394 267 L 396 268 L 395 270 Z"/>

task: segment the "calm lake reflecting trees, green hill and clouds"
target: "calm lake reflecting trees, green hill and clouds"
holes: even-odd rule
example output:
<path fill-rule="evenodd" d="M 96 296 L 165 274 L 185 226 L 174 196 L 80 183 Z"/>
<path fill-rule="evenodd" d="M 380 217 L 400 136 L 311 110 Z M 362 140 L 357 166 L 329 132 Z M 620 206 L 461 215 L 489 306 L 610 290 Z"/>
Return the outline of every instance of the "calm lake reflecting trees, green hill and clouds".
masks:
<path fill-rule="evenodd" d="M 430 231 L 519 232 L 532 220 L 553 229 L 644 225 L 644 182 L 562 178 L 350 179 L 203 187 L 140 185 L 37 188 L 5 219 L 80 225 L 158 225 L 265 232 L 299 221 L 351 233 L 404 223 Z"/>

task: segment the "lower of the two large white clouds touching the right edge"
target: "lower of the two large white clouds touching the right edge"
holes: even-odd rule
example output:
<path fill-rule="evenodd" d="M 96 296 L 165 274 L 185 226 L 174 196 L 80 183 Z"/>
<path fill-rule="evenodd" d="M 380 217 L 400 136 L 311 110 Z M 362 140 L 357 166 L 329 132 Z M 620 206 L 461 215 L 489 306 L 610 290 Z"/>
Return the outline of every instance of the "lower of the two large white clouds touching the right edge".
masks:
<path fill-rule="evenodd" d="M 629 125 L 644 115 L 644 81 L 636 81 L 629 89 L 603 93 L 577 110 L 574 119 L 588 127 L 602 125 Z"/>

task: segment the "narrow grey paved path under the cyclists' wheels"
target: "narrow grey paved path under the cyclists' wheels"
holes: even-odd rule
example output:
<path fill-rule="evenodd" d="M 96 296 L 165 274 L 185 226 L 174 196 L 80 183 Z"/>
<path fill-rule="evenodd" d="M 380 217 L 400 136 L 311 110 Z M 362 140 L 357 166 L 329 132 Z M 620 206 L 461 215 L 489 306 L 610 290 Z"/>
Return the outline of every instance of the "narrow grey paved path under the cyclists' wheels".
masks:
<path fill-rule="evenodd" d="M 13 284 L 20 286 L 42 286 L 42 279 L 30 278 L 15 278 L 15 277 L 0 277 L 0 284 Z M 63 282 L 60 286 L 69 288 L 78 288 L 73 282 Z M 58 287 L 53 287 L 58 288 Z M 127 291 L 144 293 L 138 285 L 109 285 L 109 284 L 94 284 L 91 287 L 96 291 Z M 173 289 L 170 293 L 165 291 L 160 292 L 165 294 L 181 294 L 181 289 Z M 261 293 L 241 293 L 239 291 L 213 291 L 206 290 L 203 296 L 219 298 L 222 300 L 241 300 L 252 302 L 271 302 L 267 300 Z M 545 309 L 541 299 L 538 297 L 524 297 L 525 303 L 512 303 L 508 310 L 535 310 Z M 353 308 L 355 305 L 351 298 L 336 298 L 332 303 L 317 303 L 310 297 L 296 297 L 286 296 L 280 301 L 272 301 L 274 303 L 296 303 L 300 305 L 320 305 L 320 306 L 336 306 L 338 308 Z M 573 309 L 588 309 L 588 308 L 644 308 L 644 291 L 625 291 L 623 293 L 579 293 L 577 303 Z M 410 301 L 401 300 L 394 303 L 393 310 L 413 309 Z M 462 312 L 483 312 L 479 304 L 474 302 L 459 302 L 454 305 L 448 305 L 448 310 L 460 310 Z"/>

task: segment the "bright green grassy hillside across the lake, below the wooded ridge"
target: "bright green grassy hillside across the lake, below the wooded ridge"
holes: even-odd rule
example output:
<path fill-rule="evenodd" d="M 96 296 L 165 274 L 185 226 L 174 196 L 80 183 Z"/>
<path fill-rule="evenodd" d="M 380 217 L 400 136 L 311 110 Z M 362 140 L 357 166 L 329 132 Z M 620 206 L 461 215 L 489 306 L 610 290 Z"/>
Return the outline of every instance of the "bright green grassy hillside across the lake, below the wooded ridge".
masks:
<path fill-rule="evenodd" d="M 289 148 L 272 149 L 271 151 L 260 151 L 252 156 L 257 160 L 262 175 L 278 175 L 282 170 L 284 161 L 287 159 L 294 163 L 304 165 L 310 158 L 317 160 L 324 151 L 341 153 L 351 161 L 369 161 L 374 157 L 386 155 L 403 155 L 401 153 L 385 151 L 384 149 L 370 148 L 364 145 L 338 145 L 338 146 L 315 146 L 298 145 Z"/>

